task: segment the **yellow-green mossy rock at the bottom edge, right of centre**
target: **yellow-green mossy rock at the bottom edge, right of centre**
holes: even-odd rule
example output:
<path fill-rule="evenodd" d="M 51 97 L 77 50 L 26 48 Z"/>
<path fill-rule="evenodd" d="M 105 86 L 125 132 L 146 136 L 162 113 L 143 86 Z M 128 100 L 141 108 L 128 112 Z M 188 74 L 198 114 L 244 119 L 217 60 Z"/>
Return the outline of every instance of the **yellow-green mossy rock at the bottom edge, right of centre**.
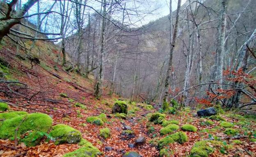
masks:
<path fill-rule="evenodd" d="M 190 157 L 208 157 L 214 149 L 209 146 L 193 147 L 190 151 Z"/>

